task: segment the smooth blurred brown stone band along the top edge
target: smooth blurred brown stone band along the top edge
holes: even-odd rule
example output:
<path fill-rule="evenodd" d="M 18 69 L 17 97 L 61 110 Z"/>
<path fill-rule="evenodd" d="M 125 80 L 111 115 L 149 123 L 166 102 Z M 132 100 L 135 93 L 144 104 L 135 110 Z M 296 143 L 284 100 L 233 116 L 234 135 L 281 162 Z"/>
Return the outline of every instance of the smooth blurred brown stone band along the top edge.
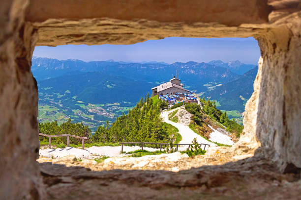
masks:
<path fill-rule="evenodd" d="M 148 19 L 185 24 L 219 23 L 237 26 L 268 21 L 267 0 L 30 0 L 26 20 L 48 19 L 118 20 Z"/>

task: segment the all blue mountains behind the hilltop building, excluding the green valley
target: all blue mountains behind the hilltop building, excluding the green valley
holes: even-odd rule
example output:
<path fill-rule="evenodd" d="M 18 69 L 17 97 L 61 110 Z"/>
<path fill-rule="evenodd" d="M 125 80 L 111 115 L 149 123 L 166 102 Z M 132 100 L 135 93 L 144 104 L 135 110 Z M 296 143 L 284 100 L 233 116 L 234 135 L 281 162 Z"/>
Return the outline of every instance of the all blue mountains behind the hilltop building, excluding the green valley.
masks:
<path fill-rule="evenodd" d="M 205 92 L 206 97 L 220 101 L 222 109 L 243 111 L 245 100 L 253 92 L 257 74 L 254 67 L 240 61 L 220 60 L 167 64 L 33 57 L 31 71 L 38 82 L 39 103 L 44 104 L 56 101 L 71 106 L 76 101 L 96 104 L 126 101 L 131 102 L 127 106 L 134 105 L 141 96 L 151 93 L 151 87 L 169 81 L 178 69 L 185 88 Z M 208 83 L 222 86 L 208 91 Z"/>

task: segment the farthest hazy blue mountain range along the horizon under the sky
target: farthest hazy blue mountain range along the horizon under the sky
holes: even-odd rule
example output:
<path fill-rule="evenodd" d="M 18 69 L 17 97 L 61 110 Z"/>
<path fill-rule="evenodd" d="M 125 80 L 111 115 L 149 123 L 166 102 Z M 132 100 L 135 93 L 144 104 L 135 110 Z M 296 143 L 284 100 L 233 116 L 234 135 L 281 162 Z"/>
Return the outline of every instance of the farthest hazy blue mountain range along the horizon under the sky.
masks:
<path fill-rule="evenodd" d="M 240 64 L 239 69 L 242 69 L 243 66 L 249 67 L 249 65 Z M 151 83 L 168 81 L 173 75 L 176 75 L 177 69 L 182 82 L 189 86 L 189 89 L 196 91 L 206 90 L 203 85 L 208 82 L 224 83 L 240 77 L 229 68 L 204 62 L 176 62 L 170 65 L 155 62 L 125 64 L 115 61 L 84 62 L 74 59 L 57 60 L 33 57 L 31 67 L 31 71 L 38 81 L 70 73 L 103 72 L 107 75 L 124 76 Z"/>

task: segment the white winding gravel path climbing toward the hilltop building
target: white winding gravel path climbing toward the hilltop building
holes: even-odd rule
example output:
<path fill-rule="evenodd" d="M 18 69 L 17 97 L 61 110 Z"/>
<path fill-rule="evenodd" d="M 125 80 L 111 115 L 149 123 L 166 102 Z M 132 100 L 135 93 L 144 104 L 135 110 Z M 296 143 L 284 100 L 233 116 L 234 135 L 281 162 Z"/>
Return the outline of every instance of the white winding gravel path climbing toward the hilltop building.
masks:
<path fill-rule="evenodd" d="M 193 132 L 193 130 L 191 130 L 189 128 L 189 126 L 182 125 L 182 124 L 175 123 L 175 122 L 172 122 L 172 121 L 168 120 L 168 114 L 175 111 L 175 110 L 179 110 L 180 108 L 181 107 L 170 110 L 170 111 L 163 111 L 160 115 L 163 122 L 166 122 L 170 125 L 173 125 L 173 126 L 175 126 L 179 129 L 179 133 L 182 136 L 182 140 L 180 141 L 180 144 L 191 144 L 191 142 L 193 141 L 193 138 L 197 138 L 198 143 L 209 144 L 210 147 L 216 147 L 216 145 L 214 143 L 211 143 L 211 142 L 207 141 L 206 139 L 204 139 L 203 137 L 201 137 L 197 133 Z M 187 147 L 184 147 L 184 148 L 187 149 Z"/>

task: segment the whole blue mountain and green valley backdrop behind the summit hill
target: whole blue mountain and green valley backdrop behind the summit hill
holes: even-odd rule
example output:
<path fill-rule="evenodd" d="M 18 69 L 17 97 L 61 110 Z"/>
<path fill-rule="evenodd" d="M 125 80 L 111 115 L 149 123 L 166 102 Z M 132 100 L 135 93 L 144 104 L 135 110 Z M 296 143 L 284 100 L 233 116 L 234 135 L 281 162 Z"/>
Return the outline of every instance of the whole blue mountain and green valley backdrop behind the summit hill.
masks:
<path fill-rule="evenodd" d="M 220 109 L 243 111 L 253 91 L 250 81 L 255 77 L 248 73 L 238 75 L 232 70 L 246 70 L 250 66 L 239 61 L 166 64 L 33 57 L 31 71 L 38 83 L 39 122 L 58 121 L 60 125 L 71 118 L 72 122 L 89 125 L 94 132 L 107 120 L 112 125 L 117 117 L 136 105 L 141 94 L 168 81 L 177 69 L 184 88 L 197 94 L 207 92 L 206 97 L 219 101 Z M 226 95 L 219 91 L 225 86 Z M 237 115 L 241 117 L 240 113 Z"/>

